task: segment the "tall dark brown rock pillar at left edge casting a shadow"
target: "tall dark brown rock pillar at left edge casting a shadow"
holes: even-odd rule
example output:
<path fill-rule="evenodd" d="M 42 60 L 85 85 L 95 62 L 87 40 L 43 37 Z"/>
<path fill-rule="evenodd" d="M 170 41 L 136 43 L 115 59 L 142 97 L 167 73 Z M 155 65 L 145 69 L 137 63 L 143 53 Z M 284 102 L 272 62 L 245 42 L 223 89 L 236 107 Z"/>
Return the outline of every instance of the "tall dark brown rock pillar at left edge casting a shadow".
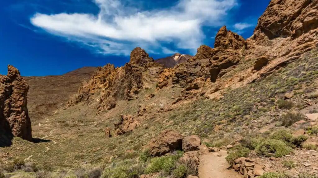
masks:
<path fill-rule="evenodd" d="M 0 129 L 3 134 L 32 141 L 28 90 L 28 84 L 15 67 L 9 65 L 8 74 L 0 75 Z"/>

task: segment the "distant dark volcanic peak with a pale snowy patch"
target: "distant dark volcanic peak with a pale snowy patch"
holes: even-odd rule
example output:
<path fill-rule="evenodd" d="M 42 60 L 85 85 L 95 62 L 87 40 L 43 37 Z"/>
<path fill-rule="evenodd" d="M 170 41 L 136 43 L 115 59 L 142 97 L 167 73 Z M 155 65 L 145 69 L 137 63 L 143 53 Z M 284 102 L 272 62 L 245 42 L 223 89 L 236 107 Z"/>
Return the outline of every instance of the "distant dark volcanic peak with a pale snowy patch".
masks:
<path fill-rule="evenodd" d="M 191 57 L 193 57 L 193 56 L 190 56 L 188 54 L 176 53 L 176 54 L 169 56 L 169 57 L 166 57 L 166 58 L 157 59 L 157 60 L 155 60 L 155 62 L 162 64 L 164 67 L 172 68 L 178 64 L 187 62 L 188 59 L 190 59 Z"/>

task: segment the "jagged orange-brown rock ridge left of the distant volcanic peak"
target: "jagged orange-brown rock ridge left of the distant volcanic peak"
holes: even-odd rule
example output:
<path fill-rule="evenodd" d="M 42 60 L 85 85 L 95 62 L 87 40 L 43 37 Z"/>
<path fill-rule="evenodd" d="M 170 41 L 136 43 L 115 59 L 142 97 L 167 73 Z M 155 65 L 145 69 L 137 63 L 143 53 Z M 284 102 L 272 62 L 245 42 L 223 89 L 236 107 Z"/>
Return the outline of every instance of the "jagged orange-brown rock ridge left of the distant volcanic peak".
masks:
<path fill-rule="evenodd" d="M 97 93 L 99 96 L 98 111 L 110 110 L 116 106 L 117 100 L 135 99 L 139 91 L 147 83 L 147 77 L 143 76 L 145 70 L 152 68 L 163 68 L 160 64 L 155 64 L 154 60 L 142 48 L 135 48 L 130 55 L 130 61 L 123 67 L 115 68 L 114 65 L 107 64 L 99 67 L 92 79 L 79 88 L 77 96 L 68 102 L 74 105 L 81 101 L 88 101 Z M 153 73 L 158 73 L 155 70 Z M 149 72 L 151 73 L 151 72 Z"/>

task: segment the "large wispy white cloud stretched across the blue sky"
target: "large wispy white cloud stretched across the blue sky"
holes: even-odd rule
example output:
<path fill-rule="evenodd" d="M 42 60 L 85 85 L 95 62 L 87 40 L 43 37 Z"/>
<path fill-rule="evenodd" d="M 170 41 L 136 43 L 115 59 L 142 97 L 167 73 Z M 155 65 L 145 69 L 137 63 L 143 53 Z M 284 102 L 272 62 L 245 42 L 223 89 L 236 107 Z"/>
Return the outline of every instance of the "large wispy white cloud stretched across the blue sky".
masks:
<path fill-rule="evenodd" d="M 236 0 L 179 0 L 169 9 L 141 11 L 124 7 L 120 0 L 94 0 L 100 8 L 92 14 L 40 14 L 34 26 L 54 35 L 89 45 L 104 54 L 127 55 L 136 46 L 167 52 L 161 42 L 196 50 L 202 43 L 202 26 L 220 26 Z M 238 26 L 242 27 L 242 26 Z"/>

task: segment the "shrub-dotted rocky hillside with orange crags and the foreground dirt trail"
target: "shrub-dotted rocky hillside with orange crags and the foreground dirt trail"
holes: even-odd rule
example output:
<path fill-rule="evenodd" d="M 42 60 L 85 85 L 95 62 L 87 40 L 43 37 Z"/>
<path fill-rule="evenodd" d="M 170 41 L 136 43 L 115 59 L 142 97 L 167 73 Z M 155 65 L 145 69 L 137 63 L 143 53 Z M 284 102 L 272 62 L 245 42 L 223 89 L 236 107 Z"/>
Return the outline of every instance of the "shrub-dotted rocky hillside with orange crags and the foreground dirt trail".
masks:
<path fill-rule="evenodd" d="M 125 66 L 98 67 L 66 105 L 35 118 L 33 137 L 48 142 L 13 139 L 0 169 L 17 177 L 316 178 L 317 36 L 318 1 L 272 0 L 250 38 L 221 27 L 214 48 L 202 45 L 180 64 L 135 48 Z"/>

